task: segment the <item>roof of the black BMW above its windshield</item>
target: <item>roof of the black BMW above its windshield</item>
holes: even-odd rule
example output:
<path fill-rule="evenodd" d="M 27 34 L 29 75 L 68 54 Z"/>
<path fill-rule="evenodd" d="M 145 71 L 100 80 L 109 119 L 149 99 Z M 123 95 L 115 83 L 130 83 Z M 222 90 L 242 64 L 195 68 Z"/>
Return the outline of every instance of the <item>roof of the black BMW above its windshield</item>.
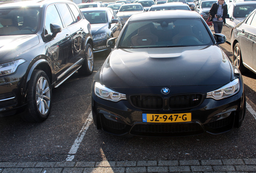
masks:
<path fill-rule="evenodd" d="M 130 17 L 130 21 L 163 18 L 200 18 L 200 14 L 198 14 L 198 12 L 190 10 L 149 11 L 132 15 Z"/>

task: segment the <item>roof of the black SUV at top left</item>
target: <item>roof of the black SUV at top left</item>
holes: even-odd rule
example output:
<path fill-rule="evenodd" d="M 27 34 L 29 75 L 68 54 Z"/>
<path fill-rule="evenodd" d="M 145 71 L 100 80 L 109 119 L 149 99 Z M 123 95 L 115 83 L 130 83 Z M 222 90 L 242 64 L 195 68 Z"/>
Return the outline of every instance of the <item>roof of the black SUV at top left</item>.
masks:
<path fill-rule="evenodd" d="M 69 0 L 29 0 L 29 1 L 21 1 L 21 2 L 10 2 L 6 4 L 0 4 L 0 9 L 6 8 L 20 8 L 20 7 L 30 7 L 30 8 L 42 8 L 43 5 L 54 4 L 58 2 L 72 3 Z"/>

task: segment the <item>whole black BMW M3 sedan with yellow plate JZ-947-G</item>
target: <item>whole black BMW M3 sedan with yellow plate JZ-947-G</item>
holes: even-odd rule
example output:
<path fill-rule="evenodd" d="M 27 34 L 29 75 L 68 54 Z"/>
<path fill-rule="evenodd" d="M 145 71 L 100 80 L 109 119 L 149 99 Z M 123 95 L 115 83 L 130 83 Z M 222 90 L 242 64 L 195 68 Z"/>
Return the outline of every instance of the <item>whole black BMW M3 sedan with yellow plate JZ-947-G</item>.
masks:
<path fill-rule="evenodd" d="M 135 14 L 93 78 L 97 129 L 119 136 L 220 134 L 240 127 L 246 99 L 240 71 L 196 12 Z"/>

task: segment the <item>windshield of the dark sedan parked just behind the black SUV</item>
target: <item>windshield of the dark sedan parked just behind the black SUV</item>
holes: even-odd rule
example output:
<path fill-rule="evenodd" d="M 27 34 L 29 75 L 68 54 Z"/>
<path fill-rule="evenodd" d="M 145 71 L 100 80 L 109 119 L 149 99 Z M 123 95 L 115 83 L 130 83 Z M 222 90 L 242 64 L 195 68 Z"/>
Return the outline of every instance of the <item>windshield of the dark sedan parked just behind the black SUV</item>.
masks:
<path fill-rule="evenodd" d="M 90 24 L 101 24 L 107 23 L 107 17 L 105 11 L 93 11 L 93 12 L 82 12 L 85 16 L 86 20 L 90 22 Z"/>

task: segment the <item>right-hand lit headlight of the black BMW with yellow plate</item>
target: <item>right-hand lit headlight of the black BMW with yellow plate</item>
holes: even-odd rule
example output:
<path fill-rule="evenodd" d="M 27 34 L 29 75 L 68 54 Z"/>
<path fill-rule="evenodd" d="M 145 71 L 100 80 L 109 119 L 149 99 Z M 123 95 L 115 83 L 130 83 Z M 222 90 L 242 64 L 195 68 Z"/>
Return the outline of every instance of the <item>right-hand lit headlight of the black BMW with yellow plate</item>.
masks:
<path fill-rule="evenodd" d="M 212 91 L 210 93 L 207 93 L 206 98 L 212 98 L 215 100 L 221 100 L 227 97 L 230 97 L 232 95 L 235 95 L 238 93 L 240 89 L 239 85 L 239 79 L 236 78 L 235 80 L 231 81 L 230 83 L 226 84 L 225 86 Z"/>

